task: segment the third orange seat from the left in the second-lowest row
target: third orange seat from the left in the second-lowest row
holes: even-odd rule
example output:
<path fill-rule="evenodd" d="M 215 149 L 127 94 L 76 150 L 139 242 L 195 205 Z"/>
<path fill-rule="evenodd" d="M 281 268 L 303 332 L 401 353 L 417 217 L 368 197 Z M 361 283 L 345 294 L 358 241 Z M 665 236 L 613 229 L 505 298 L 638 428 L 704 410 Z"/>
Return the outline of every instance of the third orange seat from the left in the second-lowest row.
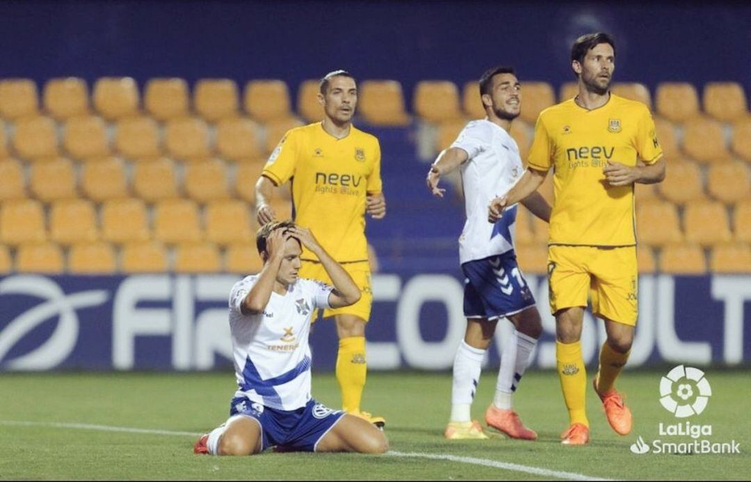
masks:
<path fill-rule="evenodd" d="M 101 239 L 110 243 L 137 243 L 148 240 L 149 215 L 140 199 L 105 201 L 100 209 Z"/>

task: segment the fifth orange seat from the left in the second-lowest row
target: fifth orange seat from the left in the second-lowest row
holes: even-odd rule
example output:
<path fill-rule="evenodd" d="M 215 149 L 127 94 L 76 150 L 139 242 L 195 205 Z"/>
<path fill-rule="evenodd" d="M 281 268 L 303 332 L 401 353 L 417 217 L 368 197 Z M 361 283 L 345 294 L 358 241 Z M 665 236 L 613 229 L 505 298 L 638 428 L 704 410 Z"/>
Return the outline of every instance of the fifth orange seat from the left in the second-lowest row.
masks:
<path fill-rule="evenodd" d="M 248 203 L 241 200 L 218 200 L 206 206 L 206 237 L 220 245 L 255 243 L 258 223 Z"/>

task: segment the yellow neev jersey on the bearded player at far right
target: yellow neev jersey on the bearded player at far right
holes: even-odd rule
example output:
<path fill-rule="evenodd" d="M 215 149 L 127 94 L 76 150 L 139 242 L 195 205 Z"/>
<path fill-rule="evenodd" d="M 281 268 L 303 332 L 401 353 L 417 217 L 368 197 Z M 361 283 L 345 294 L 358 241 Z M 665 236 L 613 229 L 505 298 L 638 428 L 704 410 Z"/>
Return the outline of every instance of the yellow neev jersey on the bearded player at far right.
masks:
<path fill-rule="evenodd" d="M 635 245 L 633 185 L 608 185 L 602 170 L 608 161 L 635 166 L 661 157 L 654 121 L 641 102 L 611 94 L 598 109 L 571 99 L 543 110 L 529 167 L 554 170 L 549 244 Z"/>

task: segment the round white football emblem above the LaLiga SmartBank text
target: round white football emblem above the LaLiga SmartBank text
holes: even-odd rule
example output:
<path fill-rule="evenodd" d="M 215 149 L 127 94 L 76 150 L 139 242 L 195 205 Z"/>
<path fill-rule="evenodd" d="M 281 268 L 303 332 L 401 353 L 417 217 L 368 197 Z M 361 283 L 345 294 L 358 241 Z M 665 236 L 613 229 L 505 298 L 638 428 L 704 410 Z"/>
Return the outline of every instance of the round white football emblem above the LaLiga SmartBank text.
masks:
<path fill-rule="evenodd" d="M 659 382 L 659 402 L 677 418 L 701 414 L 707 408 L 712 388 L 704 372 L 691 366 L 676 366 Z"/>

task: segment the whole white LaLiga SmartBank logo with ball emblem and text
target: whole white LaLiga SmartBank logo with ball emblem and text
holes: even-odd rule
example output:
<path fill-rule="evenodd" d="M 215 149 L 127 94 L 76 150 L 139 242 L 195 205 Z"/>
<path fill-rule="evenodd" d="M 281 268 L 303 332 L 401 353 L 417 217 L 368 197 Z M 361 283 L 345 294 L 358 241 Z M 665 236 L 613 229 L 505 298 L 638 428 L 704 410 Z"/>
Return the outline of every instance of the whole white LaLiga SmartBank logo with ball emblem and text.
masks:
<path fill-rule="evenodd" d="M 712 387 L 704 376 L 704 372 L 691 366 L 676 366 L 660 380 L 660 405 L 673 414 L 677 419 L 685 419 L 701 414 L 710 396 Z M 660 437 L 647 444 L 644 438 L 639 438 L 631 444 L 631 451 L 638 455 L 644 453 L 673 453 L 680 455 L 694 455 L 703 453 L 740 453 L 737 441 L 713 441 L 711 425 L 691 423 L 689 420 L 679 423 L 659 423 Z M 689 438 L 689 440 L 686 440 Z"/>

